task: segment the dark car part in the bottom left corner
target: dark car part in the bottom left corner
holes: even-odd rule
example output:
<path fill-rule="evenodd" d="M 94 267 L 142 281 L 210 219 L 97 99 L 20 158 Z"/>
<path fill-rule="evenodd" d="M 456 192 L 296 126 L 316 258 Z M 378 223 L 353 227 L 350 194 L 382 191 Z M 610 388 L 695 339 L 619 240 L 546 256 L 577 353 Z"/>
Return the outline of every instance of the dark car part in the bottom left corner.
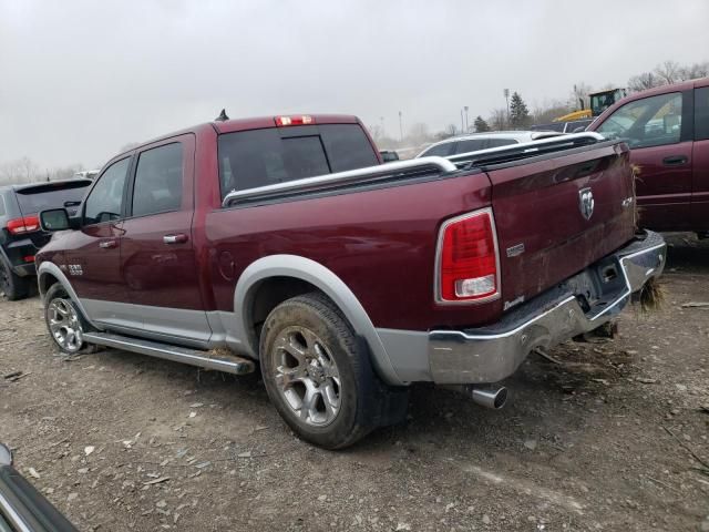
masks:
<path fill-rule="evenodd" d="M 12 467 L 10 449 L 0 443 L 0 530 L 76 532 L 59 510 Z"/>

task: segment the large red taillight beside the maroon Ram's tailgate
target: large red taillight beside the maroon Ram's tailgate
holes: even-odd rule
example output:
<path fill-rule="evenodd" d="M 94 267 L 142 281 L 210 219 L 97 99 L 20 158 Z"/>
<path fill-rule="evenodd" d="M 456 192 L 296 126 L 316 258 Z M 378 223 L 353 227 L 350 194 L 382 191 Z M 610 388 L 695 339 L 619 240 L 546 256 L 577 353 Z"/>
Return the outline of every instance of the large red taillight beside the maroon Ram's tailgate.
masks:
<path fill-rule="evenodd" d="M 500 260 L 492 209 L 449 219 L 439 235 L 439 303 L 483 301 L 500 297 Z"/>

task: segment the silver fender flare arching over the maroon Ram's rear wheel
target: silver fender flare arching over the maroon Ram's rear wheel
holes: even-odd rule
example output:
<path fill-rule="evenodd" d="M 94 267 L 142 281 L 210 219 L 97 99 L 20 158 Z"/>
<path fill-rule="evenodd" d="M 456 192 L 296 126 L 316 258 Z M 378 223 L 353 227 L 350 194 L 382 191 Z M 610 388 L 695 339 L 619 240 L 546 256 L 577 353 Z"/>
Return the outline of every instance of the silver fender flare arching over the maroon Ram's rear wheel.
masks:
<path fill-rule="evenodd" d="M 362 336 L 369 346 L 372 362 L 379 376 L 391 385 L 402 386 L 403 382 L 391 364 L 389 355 L 377 334 L 377 329 L 367 315 L 364 307 L 357 296 L 335 273 L 306 257 L 298 255 L 269 255 L 251 263 L 242 274 L 234 290 L 234 311 L 236 314 L 236 336 L 244 338 L 245 347 L 249 338 L 250 316 L 245 311 L 250 304 L 250 296 L 261 282 L 271 277 L 294 277 L 305 280 L 326 294 L 345 314 L 357 335 Z M 258 358 L 258 354 L 251 354 Z"/>

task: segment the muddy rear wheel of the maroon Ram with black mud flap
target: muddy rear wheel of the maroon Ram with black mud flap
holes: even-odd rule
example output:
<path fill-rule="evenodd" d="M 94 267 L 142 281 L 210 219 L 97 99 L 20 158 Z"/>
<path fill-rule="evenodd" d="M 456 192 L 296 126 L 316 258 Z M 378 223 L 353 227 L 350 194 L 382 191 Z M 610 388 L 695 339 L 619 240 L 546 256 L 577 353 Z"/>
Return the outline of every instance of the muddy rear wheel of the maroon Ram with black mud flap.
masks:
<path fill-rule="evenodd" d="M 288 299 L 268 315 L 260 360 L 276 410 L 299 438 L 318 447 L 351 446 L 374 428 L 405 417 L 408 391 L 394 391 L 397 400 L 390 400 L 371 368 L 366 342 L 318 293 Z"/>

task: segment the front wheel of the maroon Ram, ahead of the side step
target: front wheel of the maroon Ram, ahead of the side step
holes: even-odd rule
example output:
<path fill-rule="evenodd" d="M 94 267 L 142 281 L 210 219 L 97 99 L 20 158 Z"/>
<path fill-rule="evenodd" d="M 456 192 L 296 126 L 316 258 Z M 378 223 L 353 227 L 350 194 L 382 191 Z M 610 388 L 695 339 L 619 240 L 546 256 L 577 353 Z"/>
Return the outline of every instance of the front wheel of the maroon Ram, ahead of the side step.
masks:
<path fill-rule="evenodd" d="M 75 355 L 82 349 L 95 352 L 93 345 L 85 344 L 84 332 L 90 328 L 64 287 L 55 283 L 44 295 L 44 321 L 49 334 L 62 352 Z"/>

